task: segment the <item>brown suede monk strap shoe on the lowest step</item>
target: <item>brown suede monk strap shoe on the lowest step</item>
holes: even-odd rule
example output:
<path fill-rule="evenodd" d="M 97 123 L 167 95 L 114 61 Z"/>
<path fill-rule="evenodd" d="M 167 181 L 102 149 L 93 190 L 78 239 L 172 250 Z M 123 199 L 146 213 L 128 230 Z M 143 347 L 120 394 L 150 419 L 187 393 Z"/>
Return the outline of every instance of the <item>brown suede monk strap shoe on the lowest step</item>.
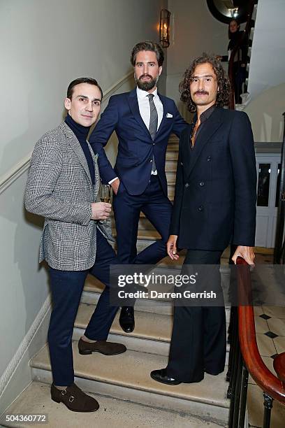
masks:
<path fill-rule="evenodd" d="M 52 383 L 50 394 L 53 401 L 64 403 L 73 412 L 95 412 L 99 408 L 98 401 L 85 394 L 75 383 L 65 390 L 59 390 Z"/>

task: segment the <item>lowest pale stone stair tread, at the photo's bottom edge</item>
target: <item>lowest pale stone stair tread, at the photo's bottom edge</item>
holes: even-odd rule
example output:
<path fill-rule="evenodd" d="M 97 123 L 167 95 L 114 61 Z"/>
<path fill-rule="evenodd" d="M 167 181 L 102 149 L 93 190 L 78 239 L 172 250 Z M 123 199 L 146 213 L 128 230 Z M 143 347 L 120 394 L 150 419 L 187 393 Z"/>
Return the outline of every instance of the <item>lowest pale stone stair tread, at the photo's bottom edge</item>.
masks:
<path fill-rule="evenodd" d="M 163 428 L 218 428 L 214 422 L 207 422 L 186 413 L 167 411 L 160 408 L 144 406 L 131 401 L 90 394 L 100 404 L 96 413 L 74 413 L 68 411 L 64 404 L 56 404 L 50 399 L 50 385 L 32 382 L 22 394 L 10 405 L 5 412 L 9 415 L 38 415 L 46 413 L 48 422 L 45 427 L 81 428 L 133 428 L 133 427 L 163 427 Z M 41 411 L 40 411 L 41 410 Z M 3 422 L 4 423 L 4 422 Z M 1 424 L 1 420 L 0 420 Z M 14 422 L 6 426 L 28 428 L 31 422 Z M 33 427 L 42 426 L 33 424 Z"/>

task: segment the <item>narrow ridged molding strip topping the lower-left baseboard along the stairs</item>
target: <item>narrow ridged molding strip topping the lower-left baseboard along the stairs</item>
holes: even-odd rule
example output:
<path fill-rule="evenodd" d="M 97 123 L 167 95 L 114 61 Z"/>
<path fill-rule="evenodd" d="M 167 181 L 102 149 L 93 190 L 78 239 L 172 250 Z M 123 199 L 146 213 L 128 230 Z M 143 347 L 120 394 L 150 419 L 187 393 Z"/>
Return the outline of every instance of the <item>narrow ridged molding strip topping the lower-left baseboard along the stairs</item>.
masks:
<path fill-rule="evenodd" d="M 31 324 L 29 331 L 27 332 L 26 336 L 24 336 L 22 342 L 20 343 L 19 348 L 17 348 L 17 351 L 15 352 L 15 355 L 10 360 L 10 363 L 8 364 L 8 366 L 6 367 L 6 370 L 4 371 L 3 375 L 0 378 L 0 397 L 5 391 L 6 386 L 8 385 L 10 379 L 13 376 L 13 373 L 17 369 L 17 366 L 20 363 L 24 353 L 27 351 L 29 344 L 31 343 L 31 340 L 36 335 L 36 331 L 38 330 L 38 327 L 40 327 L 41 322 L 45 318 L 47 311 L 49 311 L 50 305 L 51 305 L 51 298 L 49 295 L 47 296 L 47 299 L 45 299 L 45 302 L 41 307 L 40 311 L 38 312 L 38 315 L 36 315 L 36 318 L 33 324 Z"/>

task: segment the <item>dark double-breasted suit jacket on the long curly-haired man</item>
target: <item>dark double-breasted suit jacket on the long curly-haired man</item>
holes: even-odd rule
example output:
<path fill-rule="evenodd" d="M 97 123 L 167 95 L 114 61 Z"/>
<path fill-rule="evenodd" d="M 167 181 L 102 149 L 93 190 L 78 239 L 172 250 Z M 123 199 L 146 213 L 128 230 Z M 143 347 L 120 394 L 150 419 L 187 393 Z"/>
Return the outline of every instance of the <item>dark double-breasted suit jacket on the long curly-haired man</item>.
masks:
<path fill-rule="evenodd" d="M 256 160 L 247 114 L 216 107 L 191 148 L 182 132 L 170 234 L 179 248 L 254 246 Z"/>

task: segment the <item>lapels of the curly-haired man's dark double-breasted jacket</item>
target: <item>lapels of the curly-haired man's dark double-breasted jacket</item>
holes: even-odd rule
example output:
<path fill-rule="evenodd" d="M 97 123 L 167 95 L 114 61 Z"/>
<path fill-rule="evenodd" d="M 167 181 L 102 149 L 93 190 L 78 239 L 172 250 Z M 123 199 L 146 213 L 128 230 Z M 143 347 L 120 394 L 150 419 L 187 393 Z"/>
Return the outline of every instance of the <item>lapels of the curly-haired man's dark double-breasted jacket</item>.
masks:
<path fill-rule="evenodd" d="M 222 114 L 222 108 L 215 108 L 212 115 L 210 115 L 209 119 L 207 119 L 205 121 L 203 128 L 199 132 L 198 137 L 197 137 L 196 142 L 195 142 L 195 148 L 191 152 L 190 164 L 189 164 L 189 169 L 188 169 L 188 174 L 187 174 L 188 177 L 191 175 L 191 172 L 193 171 L 193 167 L 195 166 L 195 164 L 198 160 L 198 157 L 200 156 L 201 152 L 203 151 L 203 148 L 205 147 L 207 142 L 210 140 L 212 135 L 221 126 L 221 124 L 222 124 L 221 114 Z M 188 139 L 188 144 L 189 144 L 189 150 L 191 150 L 191 148 L 190 148 L 190 144 L 191 144 L 190 135 L 189 135 L 189 139 Z"/>

